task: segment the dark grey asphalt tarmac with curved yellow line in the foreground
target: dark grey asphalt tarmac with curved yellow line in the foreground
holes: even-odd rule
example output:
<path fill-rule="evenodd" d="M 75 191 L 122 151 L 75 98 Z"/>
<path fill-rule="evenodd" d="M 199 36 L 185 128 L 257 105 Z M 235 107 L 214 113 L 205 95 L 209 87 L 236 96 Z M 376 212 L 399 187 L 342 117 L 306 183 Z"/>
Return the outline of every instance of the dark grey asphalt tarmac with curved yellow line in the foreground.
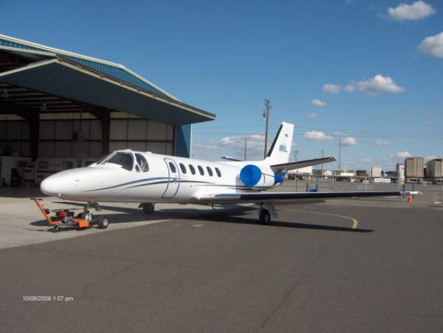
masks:
<path fill-rule="evenodd" d="M 443 211 L 360 204 L 282 206 L 271 225 L 161 212 L 4 248 L 0 330 L 443 332 Z"/>

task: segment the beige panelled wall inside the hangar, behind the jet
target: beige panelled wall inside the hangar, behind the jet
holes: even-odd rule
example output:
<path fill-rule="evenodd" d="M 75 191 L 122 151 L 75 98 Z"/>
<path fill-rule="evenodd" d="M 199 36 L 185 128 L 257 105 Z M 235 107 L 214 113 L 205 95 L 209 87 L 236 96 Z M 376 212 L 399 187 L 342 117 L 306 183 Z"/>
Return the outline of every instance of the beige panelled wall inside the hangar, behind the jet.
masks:
<path fill-rule="evenodd" d="M 31 156 L 29 121 L 13 114 L 0 120 L 0 150 Z M 39 157 L 98 158 L 102 151 L 102 123 L 91 114 L 40 114 Z M 174 126 L 111 112 L 109 150 L 132 149 L 172 155 Z"/>

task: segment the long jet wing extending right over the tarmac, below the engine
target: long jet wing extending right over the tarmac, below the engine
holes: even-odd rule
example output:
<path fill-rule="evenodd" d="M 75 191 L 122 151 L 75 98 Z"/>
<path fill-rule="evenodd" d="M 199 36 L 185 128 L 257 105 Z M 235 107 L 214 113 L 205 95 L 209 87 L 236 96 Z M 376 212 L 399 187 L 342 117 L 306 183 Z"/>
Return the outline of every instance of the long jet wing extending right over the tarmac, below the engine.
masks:
<path fill-rule="evenodd" d="M 322 198 L 357 198 L 363 196 L 399 196 L 401 191 L 360 191 L 360 192 L 254 192 L 214 194 L 197 198 L 200 203 L 284 203 L 290 201 Z"/>

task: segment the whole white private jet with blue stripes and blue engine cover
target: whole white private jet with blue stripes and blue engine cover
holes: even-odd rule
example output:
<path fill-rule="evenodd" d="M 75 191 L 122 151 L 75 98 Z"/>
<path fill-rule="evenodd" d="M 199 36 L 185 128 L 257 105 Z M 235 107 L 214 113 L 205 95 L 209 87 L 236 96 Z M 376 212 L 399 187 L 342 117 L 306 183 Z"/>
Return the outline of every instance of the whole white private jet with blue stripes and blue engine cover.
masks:
<path fill-rule="evenodd" d="M 87 203 L 140 203 L 154 212 L 155 203 L 223 205 L 255 203 L 260 223 L 277 218 L 274 203 L 319 198 L 394 196 L 397 191 L 294 193 L 268 191 L 284 182 L 288 170 L 335 161 L 325 157 L 289 162 L 293 124 L 283 122 L 261 161 L 209 162 L 139 151 L 114 151 L 88 167 L 61 171 L 43 180 L 48 196 Z"/>

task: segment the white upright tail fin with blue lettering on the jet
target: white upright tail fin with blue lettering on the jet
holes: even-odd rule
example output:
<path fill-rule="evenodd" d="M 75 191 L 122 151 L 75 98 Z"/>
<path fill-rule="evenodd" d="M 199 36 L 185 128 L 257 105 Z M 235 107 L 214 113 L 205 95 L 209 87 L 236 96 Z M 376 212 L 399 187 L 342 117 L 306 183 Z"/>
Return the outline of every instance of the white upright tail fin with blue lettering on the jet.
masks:
<path fill-rule="evenodd" d="M 285 123 L 280 125 L 280 128 L 275 136 L 271 149 L 266 155 L 266 162 L 271 164 L 282 164 L 289 162 L 289 154 L 291 153 L 293 136 L 293 123 Z"/>

